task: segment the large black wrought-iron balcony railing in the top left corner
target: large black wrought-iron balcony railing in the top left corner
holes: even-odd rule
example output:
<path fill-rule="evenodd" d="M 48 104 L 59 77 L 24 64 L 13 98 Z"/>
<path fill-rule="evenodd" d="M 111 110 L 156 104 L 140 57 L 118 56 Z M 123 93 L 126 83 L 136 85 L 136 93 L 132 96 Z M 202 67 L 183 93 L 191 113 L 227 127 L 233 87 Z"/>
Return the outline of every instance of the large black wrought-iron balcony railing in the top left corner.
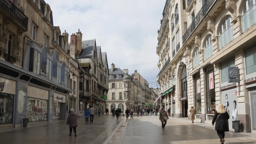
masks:
<path fill-rule="evenodd" d="M 3 8 L 8 14 L 19 21 L 22 26 L 28 29 L 28 17 L 23 14 L 10 0 L 0 0 L 0 7 Z"/>

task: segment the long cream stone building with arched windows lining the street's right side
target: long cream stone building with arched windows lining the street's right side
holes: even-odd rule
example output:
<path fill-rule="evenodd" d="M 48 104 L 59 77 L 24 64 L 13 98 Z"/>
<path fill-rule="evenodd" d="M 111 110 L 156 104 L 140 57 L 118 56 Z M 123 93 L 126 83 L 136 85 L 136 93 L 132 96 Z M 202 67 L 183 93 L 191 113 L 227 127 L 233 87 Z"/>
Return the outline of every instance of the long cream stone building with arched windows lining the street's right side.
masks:
<path fill-rule="evenodd" d="M 164 102 L 175 117 L 211 124 L 222 103 L 241 132 L 255 132 L 255 1 L 167 0 L 157 54 Z M 239 80 L 228 83 L 227 67 L 238 67 Z"/>

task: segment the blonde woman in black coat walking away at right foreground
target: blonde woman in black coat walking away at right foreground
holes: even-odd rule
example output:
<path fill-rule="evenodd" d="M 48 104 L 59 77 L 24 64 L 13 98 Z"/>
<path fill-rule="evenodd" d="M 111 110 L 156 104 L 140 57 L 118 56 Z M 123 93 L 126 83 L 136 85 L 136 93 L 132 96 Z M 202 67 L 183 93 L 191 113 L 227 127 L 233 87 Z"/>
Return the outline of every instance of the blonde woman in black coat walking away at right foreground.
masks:
<path fill-rule="evenodd" d="M 217 130 L 217 134 L 220 137 L 221 144 L 224 144 L 225 142 L 225 132 L 229 131 L 228 119 L 229 114 L 227 110 L 224 108 L 223 104 L 219 104 L 212 120 L 212 126 L 214 126 L 214 123 L 216 121 L 215 130 Z"/>

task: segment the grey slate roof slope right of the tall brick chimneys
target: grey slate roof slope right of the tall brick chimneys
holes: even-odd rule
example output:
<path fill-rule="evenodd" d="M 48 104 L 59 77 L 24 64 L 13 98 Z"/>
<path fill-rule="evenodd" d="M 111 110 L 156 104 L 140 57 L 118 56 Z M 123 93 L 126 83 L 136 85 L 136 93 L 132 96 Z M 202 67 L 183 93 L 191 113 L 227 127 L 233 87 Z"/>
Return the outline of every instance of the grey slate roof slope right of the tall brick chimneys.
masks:
<path fill-rule="evenodd" d="M 82 41 L 82 51 L 80 53 L 80 57 L 92 56 L 94 43 L 95 43 L 95 39 Z"/>

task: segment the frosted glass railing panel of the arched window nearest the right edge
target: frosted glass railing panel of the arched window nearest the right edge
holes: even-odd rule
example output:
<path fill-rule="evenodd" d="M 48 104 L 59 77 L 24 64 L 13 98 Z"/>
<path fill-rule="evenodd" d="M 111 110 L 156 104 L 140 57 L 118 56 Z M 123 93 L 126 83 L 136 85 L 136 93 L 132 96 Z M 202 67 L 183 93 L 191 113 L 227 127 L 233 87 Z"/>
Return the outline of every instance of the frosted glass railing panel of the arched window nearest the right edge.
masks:
<path fill-rule="evenodd" d="M 254 25 L 256 22 L 256 5 L 251 7 L 241 16 L 242 32 Z"/>

